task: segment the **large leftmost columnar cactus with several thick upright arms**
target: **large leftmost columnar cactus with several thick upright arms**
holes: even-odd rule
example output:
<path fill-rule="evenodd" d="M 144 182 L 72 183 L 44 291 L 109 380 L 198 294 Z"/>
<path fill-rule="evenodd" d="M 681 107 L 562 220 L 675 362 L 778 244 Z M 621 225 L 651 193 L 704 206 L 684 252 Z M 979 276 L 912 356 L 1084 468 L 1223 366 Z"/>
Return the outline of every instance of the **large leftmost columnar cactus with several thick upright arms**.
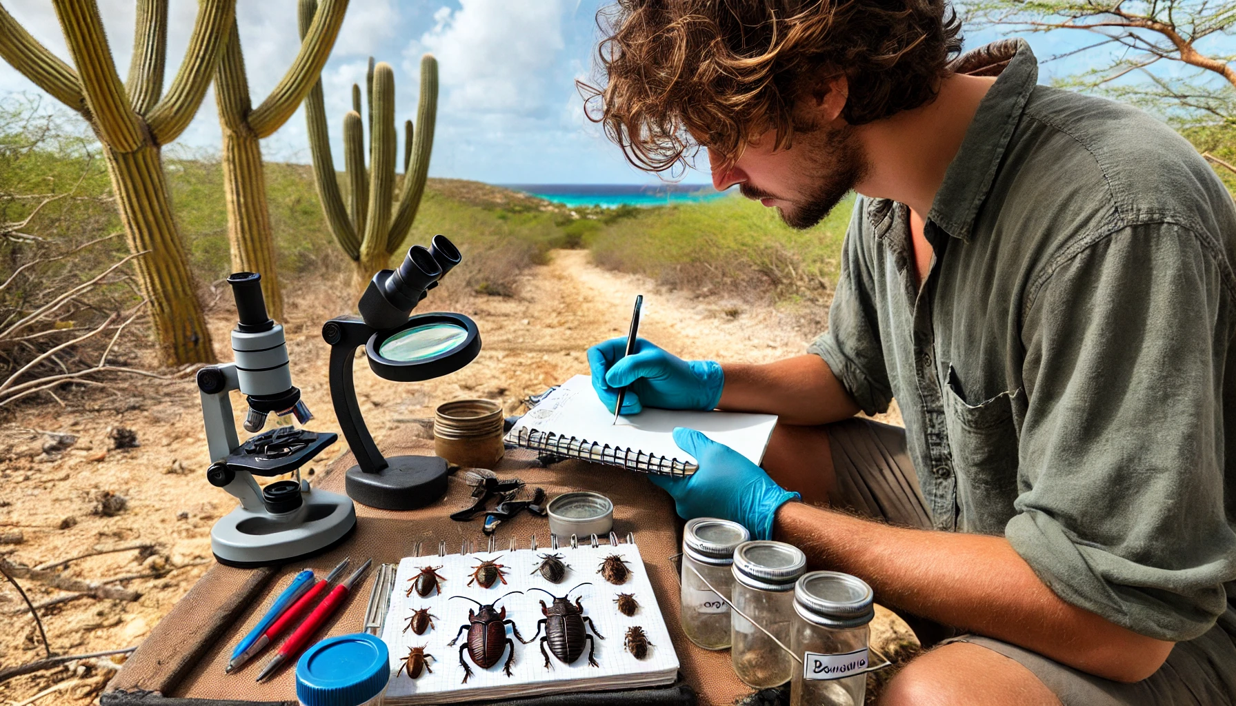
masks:
<path fill-rule="evenodd" d="M 137 1 L 127 85 L 116 73 L 95 1 L 53 0 L 53 5 L 74 66 L 31 37 L 2 6 L 0 57 L 78 111 L 103 143 L 129 247 L 143 253 L 135 263 L 163 362 L 213 362 L 210 333 L 172 218 L 161 148 L 188 127 L 201 105 L 235 0 L 199 1 L 189 48 L 167 93 L 167 0 Z M 292 110 L 299 100 L 292 100 Z"/>

